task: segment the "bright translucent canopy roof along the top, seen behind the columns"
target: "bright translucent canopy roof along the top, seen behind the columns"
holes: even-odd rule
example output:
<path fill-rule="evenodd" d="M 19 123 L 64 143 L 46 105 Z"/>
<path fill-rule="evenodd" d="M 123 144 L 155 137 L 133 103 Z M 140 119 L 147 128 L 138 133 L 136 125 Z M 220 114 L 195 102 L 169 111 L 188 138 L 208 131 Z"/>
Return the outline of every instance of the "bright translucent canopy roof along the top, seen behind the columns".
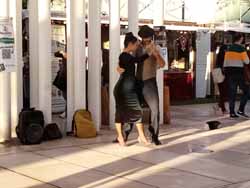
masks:
<path fill-rule="evenodd" d="M 108 17 L 109 0 L 101 1 L 102 15 Z M 140 19 L 152 19 L 154 1 L 157 0 L 139 0 Z M 53 0 L 51 5 L 53 11 L 65 11 L 65 0 Z M 120 0 L 120 14 L 128 17 L 128 0 Z M 250 23 L 250 0 L 164 0 L 164 17 L 177 22 Z"/>

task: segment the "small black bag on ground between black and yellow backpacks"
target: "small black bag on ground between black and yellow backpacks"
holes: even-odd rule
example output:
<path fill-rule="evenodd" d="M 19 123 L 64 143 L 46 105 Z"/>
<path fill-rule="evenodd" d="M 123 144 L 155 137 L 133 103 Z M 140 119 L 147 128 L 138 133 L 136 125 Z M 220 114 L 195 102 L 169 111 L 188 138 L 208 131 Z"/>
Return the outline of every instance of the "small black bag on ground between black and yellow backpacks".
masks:
<path fill-rule="evenodd" d="M 44 140 L 55 140 L 60 138 L 62 138 L 62 133 L 56 123 L 50 123 L 44 128 Z"/>

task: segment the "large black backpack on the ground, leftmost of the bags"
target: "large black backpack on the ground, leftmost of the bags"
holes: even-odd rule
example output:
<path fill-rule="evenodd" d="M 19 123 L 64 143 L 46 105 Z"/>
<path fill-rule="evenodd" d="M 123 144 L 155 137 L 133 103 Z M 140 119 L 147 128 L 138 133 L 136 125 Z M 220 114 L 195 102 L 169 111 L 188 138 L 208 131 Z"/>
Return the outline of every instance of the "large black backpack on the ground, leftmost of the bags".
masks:
<path fill-rule="evenodd" d="M 40 144 L 43 138 L 43 112 L 33 109 L 23 109 L 19 114 L 16 127 L 17 137 L 23 144 Z"/>

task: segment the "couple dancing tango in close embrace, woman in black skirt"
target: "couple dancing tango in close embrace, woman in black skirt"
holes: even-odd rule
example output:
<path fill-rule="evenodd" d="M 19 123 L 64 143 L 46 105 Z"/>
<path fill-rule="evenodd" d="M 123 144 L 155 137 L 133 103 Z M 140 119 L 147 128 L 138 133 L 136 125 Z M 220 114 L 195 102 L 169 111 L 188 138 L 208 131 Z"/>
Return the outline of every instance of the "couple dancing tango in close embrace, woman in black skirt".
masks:
<path fill-rule="evenodd" d="M 145 145 L 150 144 L 144 133 L 142 124 L 142 108 L 140 93 L 151 110 L 151 125 L 149 132 L 152 142 L 160 145 L 159 135 L 159 95 L 156 82 L 158 68 L 165 66 L 165 61 L 160 55 L 159 47 L 153 43 L 154 30 L 142 26 L 138 35 L 142 38 L 140 44 L 133 33 L 127 33 L 124 40 L 124 50 L 119 56 L 120 79 L 114 88 L 116 102 L 116 130 L 120 145 L 125 146 L 133 124 L 136 124 L 139 134 L 138 141 Z M 133 55 L 135 54 L 135 55 Z M 137 72 L 135 71 L 137 64 Z M 138 92 L 139 91 L 139 92 Z M 126 136 L 123 134 L 125 123 L 130 124 Z"/>

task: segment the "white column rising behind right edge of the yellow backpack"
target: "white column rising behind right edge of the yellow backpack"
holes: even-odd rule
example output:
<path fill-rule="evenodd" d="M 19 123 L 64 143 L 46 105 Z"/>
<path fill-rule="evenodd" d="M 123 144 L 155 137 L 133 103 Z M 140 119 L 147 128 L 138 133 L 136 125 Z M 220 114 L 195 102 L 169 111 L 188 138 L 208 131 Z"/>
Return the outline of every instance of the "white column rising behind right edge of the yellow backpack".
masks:
<path fill-rule="evenodd" d="M 97 130 L 101 125 L 101 1 L 89 1 L 88 108 Z"/>

